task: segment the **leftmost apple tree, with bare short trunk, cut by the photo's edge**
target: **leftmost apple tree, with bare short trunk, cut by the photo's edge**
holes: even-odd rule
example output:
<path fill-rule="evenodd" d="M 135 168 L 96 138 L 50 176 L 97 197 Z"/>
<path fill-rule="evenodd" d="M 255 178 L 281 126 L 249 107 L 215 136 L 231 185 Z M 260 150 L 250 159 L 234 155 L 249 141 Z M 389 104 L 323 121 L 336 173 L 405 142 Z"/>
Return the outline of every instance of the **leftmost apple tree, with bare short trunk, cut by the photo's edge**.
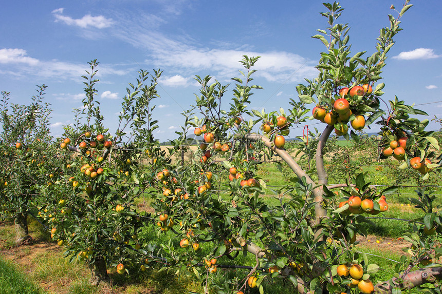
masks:
<path fill-rule="evenodd" d="M 51 185 L 50 105 L 44 102 L 46 86 L 39 86 L 29 105 L 10 103 L 10 93 L 2 92 L 0 132 L 0 218 L 12 218 L 17 245 L 32 241 L 28 210 L 36 204 L 39 186 Z"/>

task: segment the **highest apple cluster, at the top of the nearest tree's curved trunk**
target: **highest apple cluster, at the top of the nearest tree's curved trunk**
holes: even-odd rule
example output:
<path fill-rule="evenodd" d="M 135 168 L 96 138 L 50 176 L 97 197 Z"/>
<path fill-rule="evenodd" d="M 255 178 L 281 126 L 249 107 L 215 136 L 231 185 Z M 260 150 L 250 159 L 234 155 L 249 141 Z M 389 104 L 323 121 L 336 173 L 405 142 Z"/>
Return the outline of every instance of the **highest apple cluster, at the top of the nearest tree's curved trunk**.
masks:
<path fill-rule="evenodd" d="M 313 108 L 313 117 L 329 126 L 334 126 L 336 123 L 341 123 L 339 129 L 335 128 L 336 135 L 345 135 L 348 132 L 348 120 L 353 112 L 350 109 L 350 104 L 345 98 L 353 96 L 363 96 L 373 92 L 372 86 L 364 84 L 362 86 L 354 86 L 351 89 L 344 87 L 339 90 L 340 99 L 337 99 L 333 104 L 333 110 L 327 112 L 322 106 Z M 361 114 L 355 114 L 355 118 L 350 122 L 353 129 L 359 131 L 365 127 L 365 117 Z"/>

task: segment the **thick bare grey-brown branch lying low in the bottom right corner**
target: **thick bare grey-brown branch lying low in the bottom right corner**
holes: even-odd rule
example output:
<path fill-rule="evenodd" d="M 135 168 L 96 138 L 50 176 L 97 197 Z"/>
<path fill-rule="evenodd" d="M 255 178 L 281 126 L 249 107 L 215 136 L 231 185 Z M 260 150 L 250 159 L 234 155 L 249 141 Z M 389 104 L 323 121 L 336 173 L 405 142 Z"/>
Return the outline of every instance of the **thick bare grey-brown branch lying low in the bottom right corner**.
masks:
<path fill-rule="evenodd" d="M 374 293 L 391 294 L 394 287 L 400 289 L 412 289 L 425 283 L 434 284 L 436 280 L 442 279 L 442 267 L 419 268 L 418 270 L 407 273 L 402 277 L 402 282 L 398 278 L 392 278 L 389 281 L 380 282 L 375 285 Z"/>

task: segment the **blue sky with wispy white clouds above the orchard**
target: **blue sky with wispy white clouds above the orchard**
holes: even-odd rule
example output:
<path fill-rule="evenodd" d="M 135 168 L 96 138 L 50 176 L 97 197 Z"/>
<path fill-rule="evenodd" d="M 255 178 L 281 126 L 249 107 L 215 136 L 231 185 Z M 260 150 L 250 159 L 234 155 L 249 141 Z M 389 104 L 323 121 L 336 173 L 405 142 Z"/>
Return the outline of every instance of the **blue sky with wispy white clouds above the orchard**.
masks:
<path fill-rule="evenodd" d="M 193 76 L 213 75 L 223 84 L 237 75 L 243 54 L 262 56 L 257 62 L 256 90 L 251 107 L 270 112 L 287 109 L 304 77 L 317 75 L 314 66 L 325 47 L 312 39 L 326 27 L 323 1 L 192 1 L 94 0 L 8 1 L 0 11 L 0 90 L 11 102 L 27 104 L 35 85 L 45 84 L 52 104 L 51 131 L 72 123 L 72 108 L 82 106 L 81 75 L 87 62 L 100 62 L 97 99 L 106 125 L 115 130 L 121 97 L 139 69 L 163 70 L 155 117 L 160 141 L 174 139 L 182 124 L 179 113 L 194 103 L 198 92 Z M 372 54 L 379 29 L 388 26 L 394 4 L 370 0 L 340 2 L 341 23 L 351 26 L 352 51 Z M 412 1 L 402 18 L 384 67 L 384 99 L 419 106 L 442 117 L 442 2 Z M 233 89 L 231 85 L 230 89 Z M 229 92 L 231 93 L 231 92 Z M 229 95 L 226 95 L 227 97 Z M 226 105 L 228 101 L 225 101 Z M 312 106 L 313 107 L 313 106 Z M 423 117 L 420 117 L 423 119 Z M 315 121 L 308 124 L 311 127 Z M 432 123 L 431 129 L 440 125 Z M 302 133 L 294 130 L 291 136 Z"/>

